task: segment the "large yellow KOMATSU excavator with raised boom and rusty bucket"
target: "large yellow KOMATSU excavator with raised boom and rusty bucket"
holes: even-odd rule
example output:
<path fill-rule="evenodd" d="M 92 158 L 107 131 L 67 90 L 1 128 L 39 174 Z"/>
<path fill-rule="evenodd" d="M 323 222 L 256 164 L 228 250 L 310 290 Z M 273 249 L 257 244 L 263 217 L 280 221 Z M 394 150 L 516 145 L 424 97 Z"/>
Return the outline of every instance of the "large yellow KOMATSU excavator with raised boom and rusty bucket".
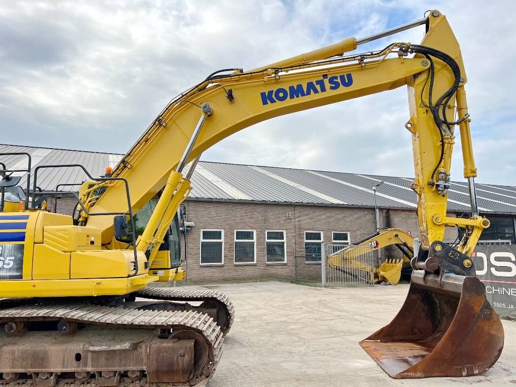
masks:
<path fill-rule="evenodd" d="M 394 42 L 346 54 L 416 26 L 425 28 L 421 44 Z M 183 276 L 156 257 L 188 197 L 202 152 L 269 118 L 404 85 L 422 240 L 399 314 L 361 345 L 394 378 L 485 372 L 502 351 L 504 332 L 471 260 L 489 220 L 479 216 L 476 204 L 465 83 L 459 44 L 444 15 L 433 10 L 374 36 L 248 71 L 210 74 L 167 104 L 110 173 L 89 176 L 74 194 L 80 208 L 73 216 L 40 208 L 54 192 L 38 191 L 38 177 L 55 166 L 6 167 L 0 188 L 16 185 L 15 174 L 24 172 L 33 189 L 27 186 L 32 199 L 23 212 L 0 214 L 0 297 L 6 298 L 0 301 L 0 384 L 205 384 L 220 359 L 222 327 L 208 313 L 176 304 L 196 300 L 222 308 L 227 300 L 148 286 Z M 469 219 L 446 215 L 457 128 L 470 187 Z M 465 229 L 457 248 L 442 242 L 447 225 Z"/>

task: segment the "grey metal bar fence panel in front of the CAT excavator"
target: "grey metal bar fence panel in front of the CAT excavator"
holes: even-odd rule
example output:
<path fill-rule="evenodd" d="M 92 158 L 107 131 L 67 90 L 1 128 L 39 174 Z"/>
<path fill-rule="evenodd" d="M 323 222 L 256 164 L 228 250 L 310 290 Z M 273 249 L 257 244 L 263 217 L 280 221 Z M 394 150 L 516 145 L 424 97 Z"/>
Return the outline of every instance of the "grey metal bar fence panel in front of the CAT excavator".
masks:
<path fill-rule="evenodd" d="M 321 284 L 323 287 L 373 286 L 374 262 L 374 250 L 370 247 L 323 244 Z"/>

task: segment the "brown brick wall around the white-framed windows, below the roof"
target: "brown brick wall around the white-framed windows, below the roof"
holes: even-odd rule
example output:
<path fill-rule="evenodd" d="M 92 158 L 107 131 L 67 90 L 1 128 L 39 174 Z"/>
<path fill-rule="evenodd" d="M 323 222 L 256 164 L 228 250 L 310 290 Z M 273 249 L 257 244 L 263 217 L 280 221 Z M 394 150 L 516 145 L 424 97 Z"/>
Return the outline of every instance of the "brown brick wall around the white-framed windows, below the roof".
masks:
<path fill-rule="evenodd" d="M 266 279 L 318 281 L 320 264 L 307 263 L 304 256 L 304 232 L 322 231 L 325 243 L 332 243 L 333 231 L 348 231 L 351 242 L 376 231 L 374 209 L 311 205 L 279 205 L 234 202 L 186 202 L 189 221 L 195 227 L 188 233 L 187 263 L 189 284 L 220 281 L 259 281 Z M 290 212 L 292 218 L 287 218 Z M 382 215 L 384 215 L 382 213 Z M 382 216 L 383 217 L 383 216 Z M 417 231 L 413 211 L 391 210 L 393 227 Z M 383 222 L 382 222 L 383 225 Z M 200 264 L 202 229 L 224 230 L 224 264 Z M 256 230 L 256 263 L 234 263 L 234 231 Z M 265 256 L 266 230 L 286 231 L 286 264 L 267 264 Z M 389 257 L 399 256 L 398 250 Z M 387 255 L 385 255 L 386 257 Z"/>

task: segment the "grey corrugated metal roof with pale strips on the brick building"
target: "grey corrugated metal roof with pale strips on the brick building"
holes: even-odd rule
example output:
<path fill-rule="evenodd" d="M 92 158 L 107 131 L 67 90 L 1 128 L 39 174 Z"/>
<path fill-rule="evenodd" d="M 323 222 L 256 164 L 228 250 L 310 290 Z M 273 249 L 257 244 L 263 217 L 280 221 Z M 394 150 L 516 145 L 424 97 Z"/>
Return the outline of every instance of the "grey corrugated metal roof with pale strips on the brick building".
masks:
<path fill-rule="evenodd" d="M 0 144 L 0 153 L 27 152 L 36 166 L 82 164 L 93 176 L 104 174 L 105 167 L 114 167 L 121 154 L 87 152 Z M 24 168 L 23 156 L 0 156 L 8 168 Z M 57 184 L 81 183 L 86 175 L 78 168 L 42 169 L 38 186 L 55 189 Z M 416 195 L 410 189 L 410 178 L 358 173 L 329 172 L 267 166 L 200 162 L 192 176 L 194 200 L 256 201 L 304 203 L 312 205 L 374 206 L 373 185 L 380 207 L 414 209 Z M 26 182 L 26 180 L 25 180 Z M 24 183 L 22 179 L 21 184 Z M 478 205 L 482 212 L 516 214 L 516 187 L 498 184 L 477 184 Z M 63 190 L 73 190 L 66 186 Z M 453 182 L 448 194 L 448 209 L 469 211 L 467 184 Z"/>

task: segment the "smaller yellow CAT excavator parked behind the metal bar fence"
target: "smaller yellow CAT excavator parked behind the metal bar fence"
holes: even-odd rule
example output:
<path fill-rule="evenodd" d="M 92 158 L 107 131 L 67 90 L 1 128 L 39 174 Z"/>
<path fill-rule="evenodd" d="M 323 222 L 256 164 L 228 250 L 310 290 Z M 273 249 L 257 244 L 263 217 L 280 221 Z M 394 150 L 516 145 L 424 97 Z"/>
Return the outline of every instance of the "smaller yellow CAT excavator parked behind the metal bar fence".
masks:
<path fill-rule="evenodd" d="M 401 278 L 403 266 L 410 264 L 414 256 L 413 245 L 414 237 L 407 231 L 381 229 L 351 246 L 333 249 L 334 251 L 326 257 L 326 263 L 330 270 L 340 271 L 351 278 L 358 277 L 366 283 L 396 285 Z M 378 267 L 364 259 L 364 256 L 368 257 L 372 251 L 389 246 L 397 247 L 403 257 L 386 259 Z"/>

